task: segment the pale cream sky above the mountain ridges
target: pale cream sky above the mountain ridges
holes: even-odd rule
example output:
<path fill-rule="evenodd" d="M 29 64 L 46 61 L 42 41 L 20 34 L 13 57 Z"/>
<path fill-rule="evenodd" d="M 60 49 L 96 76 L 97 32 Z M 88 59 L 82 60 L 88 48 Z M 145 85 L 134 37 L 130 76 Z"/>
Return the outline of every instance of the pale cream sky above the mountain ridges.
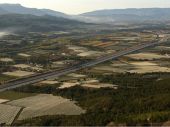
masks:
<path fill-rule="evenodd" d="M 170 7 L 170 0 L 0 0 L 31 8 L 52 9 L 67 14 L 81 14 L 100 9 Z"/>

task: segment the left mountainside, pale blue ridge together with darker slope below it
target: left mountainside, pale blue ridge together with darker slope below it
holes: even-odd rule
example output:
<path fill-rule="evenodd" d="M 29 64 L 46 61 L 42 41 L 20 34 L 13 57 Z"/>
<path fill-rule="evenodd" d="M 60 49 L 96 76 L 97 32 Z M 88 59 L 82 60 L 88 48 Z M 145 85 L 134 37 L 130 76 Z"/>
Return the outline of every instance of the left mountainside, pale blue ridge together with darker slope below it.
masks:
<path fill-rule="evenodd" d="M 9 31 L 64 31 L 85 27 L 86 23 L 71 20 L 64 13 L 26 8 L 20 4 L 0 4 L 0 29 Z"/>

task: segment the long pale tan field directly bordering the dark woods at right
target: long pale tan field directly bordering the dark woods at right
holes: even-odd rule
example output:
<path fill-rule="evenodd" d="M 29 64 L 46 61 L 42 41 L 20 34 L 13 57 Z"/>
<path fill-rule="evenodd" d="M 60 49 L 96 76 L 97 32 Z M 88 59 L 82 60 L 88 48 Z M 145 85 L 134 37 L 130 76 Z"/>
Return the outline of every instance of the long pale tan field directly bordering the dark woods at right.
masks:
<path fill-rule="evenodd" d="M 119 61 L 118 61 L 119 62 Z M 94 73 L 152 73 L 152 72 L 170 72 L 169 65 L 166 67 L 157 64 L 155 61 L 135 61 L 128 62 L 126 64 L 120 64 L 118 67 L 116 65 L 98 65 L 90 70 Z"/>

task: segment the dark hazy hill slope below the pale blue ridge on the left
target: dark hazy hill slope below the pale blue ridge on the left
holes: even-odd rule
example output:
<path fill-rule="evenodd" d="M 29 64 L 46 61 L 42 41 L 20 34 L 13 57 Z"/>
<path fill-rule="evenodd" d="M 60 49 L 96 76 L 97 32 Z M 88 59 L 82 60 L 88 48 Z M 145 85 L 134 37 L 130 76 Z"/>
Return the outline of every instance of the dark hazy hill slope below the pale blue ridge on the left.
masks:
<path fill-rule="evenodd" d="M 17 31 L 62 31 L 83 28 L 87 24 L 53 16 L 34 16 L 21 14 L 0 15 L 0 29 L 16 29 Z"/>

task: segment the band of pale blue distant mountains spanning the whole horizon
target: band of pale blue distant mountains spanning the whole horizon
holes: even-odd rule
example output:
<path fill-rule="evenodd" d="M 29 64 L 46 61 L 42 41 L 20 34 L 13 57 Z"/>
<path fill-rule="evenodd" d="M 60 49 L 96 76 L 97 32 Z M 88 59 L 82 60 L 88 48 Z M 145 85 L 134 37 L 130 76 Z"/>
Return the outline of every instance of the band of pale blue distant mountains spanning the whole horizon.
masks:
<path fill-rule="evenodd" d="M 26 8 L 20 4 L 0 4 L 0 15 L 30 14 L 34 16 L 54 16 L 88 23 L 133 23 L 165 22 L 170 20 L 170 8 L 110 9 L 88 12 L 80 15 L 67 15 L 49 9 Z M 5 17 L 3 17 L 5 18 Z"/>

